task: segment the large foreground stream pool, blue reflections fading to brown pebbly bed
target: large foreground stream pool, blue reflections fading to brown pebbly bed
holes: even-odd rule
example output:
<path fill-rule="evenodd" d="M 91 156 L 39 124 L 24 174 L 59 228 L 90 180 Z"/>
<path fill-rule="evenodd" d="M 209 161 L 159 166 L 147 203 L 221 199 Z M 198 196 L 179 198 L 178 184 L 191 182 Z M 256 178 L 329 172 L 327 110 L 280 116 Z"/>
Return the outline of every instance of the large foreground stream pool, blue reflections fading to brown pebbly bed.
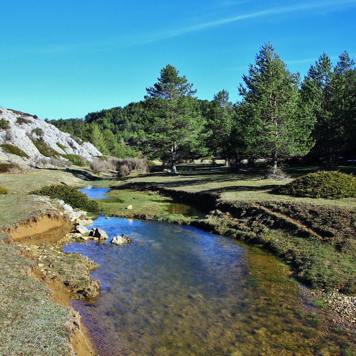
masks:
<path fill-rule="evenodd" d="M 100 265 L 99 297 L 73 301 L 100 356 L 319 355 L 334 342 L 288 269 L 256 247 L 154 220 L 95 226 L 144 241 L 65 247 Z"/>

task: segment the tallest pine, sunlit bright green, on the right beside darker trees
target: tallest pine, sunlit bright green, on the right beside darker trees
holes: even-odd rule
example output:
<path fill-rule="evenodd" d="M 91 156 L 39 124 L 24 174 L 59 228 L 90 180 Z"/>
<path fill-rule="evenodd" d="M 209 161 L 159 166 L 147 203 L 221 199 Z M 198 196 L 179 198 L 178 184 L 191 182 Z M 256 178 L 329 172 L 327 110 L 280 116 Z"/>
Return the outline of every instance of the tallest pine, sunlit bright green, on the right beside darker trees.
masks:
<path fill-rule="evenodd" d="M 306 154 L 312 140 L 313 120 L 303 117 L 299 110 L 299 73 L 290 73 L 270 43 L 265 43 L 244 75 L 245 86 L 239 92 L 247 104 L 253 121 L 256 150 L 263 158 L 271 159 L 273 171 L 277 162 Z"/>

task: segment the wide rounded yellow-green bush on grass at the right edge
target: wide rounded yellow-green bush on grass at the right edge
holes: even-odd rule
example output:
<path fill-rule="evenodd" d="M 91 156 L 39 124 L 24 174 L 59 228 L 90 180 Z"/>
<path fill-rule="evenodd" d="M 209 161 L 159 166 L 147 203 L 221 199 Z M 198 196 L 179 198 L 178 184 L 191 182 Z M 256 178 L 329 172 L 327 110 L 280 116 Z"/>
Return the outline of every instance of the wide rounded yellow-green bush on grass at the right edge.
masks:
<path fill-rule="evenodd" d="M 355 198 L 356 178 L 340 172 L 319 171 L 296 178 L 282 185 L 274 193 L 306 198 Z"/>

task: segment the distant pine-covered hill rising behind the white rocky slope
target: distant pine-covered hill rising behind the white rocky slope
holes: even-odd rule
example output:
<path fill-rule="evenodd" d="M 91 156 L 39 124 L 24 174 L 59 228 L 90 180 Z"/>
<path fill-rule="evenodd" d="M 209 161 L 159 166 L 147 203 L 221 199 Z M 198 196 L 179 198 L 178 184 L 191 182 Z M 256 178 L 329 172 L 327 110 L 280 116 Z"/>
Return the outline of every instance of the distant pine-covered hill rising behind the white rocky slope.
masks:
<path fill-rule="evenodd" d="M 207 115 L 211 103 L 208 100 L 196 99 L 198 114 Z M 72 137 L 93 143 L 100 147 L 100 152 L 119 157 L 138 154 L 138 141 L 147 131 L 144 118 L 146 111 L 143 101 L 130 103 L 124 108 L 117 106 L 111 109 L 89 112 L 83 119 L 48 120 L 50 124 Z M 100 134 L 101 133 L 101 134 Z"/>

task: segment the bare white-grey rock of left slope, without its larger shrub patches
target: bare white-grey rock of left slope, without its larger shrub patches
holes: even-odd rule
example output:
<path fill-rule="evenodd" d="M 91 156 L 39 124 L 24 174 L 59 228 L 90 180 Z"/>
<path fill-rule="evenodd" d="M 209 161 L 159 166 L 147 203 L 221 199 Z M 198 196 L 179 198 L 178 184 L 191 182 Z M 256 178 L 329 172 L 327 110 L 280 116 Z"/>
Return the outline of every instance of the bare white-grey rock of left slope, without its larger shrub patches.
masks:
<path fill-rule="evenodd" d="M 6 143 L 20 148 L 29 158 L 5 152 L 0 147 L 0 161 L 10 161 L 20 166 L 30 166 L 31 162 L 46 159 L 32 140 L 41 138 L 46 145 L 60 155 L 75 154 L 91 160 L 101 153 L 89 142 L 78 143 L 69 133 L 23 112 L 0 108 L 0 120 L 7 122 L 8 128 L 0 128 L 0 144 Z M 31 140 L 32 138 L 32 140 Z"/>

